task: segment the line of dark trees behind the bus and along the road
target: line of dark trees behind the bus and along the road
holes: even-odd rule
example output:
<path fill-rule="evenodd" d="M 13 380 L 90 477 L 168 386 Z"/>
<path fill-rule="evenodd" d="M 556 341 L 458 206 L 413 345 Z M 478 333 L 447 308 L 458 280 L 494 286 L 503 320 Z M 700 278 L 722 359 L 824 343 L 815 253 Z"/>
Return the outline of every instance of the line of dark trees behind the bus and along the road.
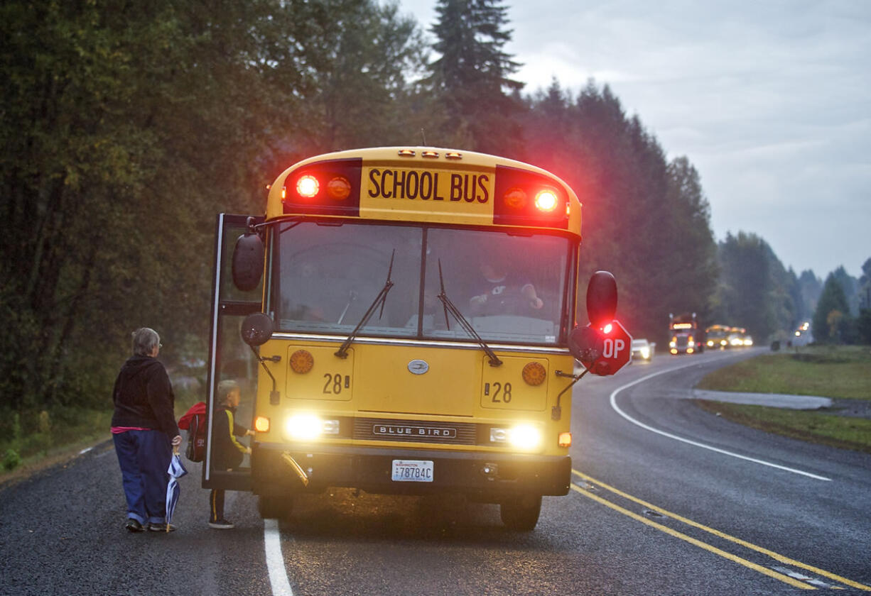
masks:
<path fill-rule="evenodd" d="M 699 172 L 607 84 L 523 93 L 502 3 L 436 12 L 424 31 L 375 0 L 4 2 L 3 406 L 105 406 L 138 326 L 166 358 L 202 356 L 215 214 L 262 212 L 289 164 L 361 146 L 487 151 L 564 178 L 584 204 L 582 279 L 615 273 L 638 337 L 664 340 L 669 312 L 763 337 L 804 315 L 760 238 L 715 241 Z"/>

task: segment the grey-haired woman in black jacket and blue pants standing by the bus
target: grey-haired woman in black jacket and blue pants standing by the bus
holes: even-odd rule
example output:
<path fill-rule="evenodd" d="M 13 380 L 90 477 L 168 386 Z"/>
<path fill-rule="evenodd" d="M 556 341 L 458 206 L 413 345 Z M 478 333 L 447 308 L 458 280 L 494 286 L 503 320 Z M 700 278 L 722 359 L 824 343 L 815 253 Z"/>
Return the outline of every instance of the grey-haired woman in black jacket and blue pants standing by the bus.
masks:
<path fill-rule="evenodd" d="M 175 423 L 175 395 L 166 369 L 157 359 L 160 337 L 142 327 L 133 331 L 133 355 L 118 372 L 112 402 L 112 439 L 127 499 L 130 532 L 172 531 L 166 527 L 166 468 L 172 445 L 181 444 Z"/>

